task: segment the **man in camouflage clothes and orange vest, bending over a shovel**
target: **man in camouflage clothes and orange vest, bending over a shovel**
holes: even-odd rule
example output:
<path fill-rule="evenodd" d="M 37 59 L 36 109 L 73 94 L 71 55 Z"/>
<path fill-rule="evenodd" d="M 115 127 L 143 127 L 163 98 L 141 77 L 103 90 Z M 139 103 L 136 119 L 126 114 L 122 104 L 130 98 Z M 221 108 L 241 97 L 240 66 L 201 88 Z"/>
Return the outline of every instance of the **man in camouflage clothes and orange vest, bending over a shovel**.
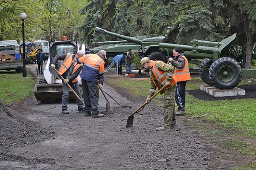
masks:
<path fill-rule="evenodd" d="M 150 102 L 150 98 L 154 95 L 156 87 L 159 90 L 166 85 L 166 88 L 160 92 L 160 94 L 164 93 L 164 122 L 156 130 L 169 130 L 170 127 L 177 126 L 174 101 L 177 78 L 173 75 L 173 67 L 163 61 L 153 61 L 147 57 L 142 58 L 140 64 L 140 69 L 149 70 L 151 77 L 151 86 L 146 103 Z"/>

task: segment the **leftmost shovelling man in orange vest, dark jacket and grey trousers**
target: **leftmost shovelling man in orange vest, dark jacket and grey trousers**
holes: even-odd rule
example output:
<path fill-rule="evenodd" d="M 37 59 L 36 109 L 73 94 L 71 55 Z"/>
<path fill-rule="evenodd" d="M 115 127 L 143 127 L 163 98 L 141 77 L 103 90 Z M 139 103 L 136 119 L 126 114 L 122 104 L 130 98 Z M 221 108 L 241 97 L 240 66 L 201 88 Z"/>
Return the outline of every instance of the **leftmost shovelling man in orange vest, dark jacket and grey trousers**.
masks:
<path fill-rule="evenodd" d="M 81 98 L 81 92 L 80 87 L 77 81 L 77 76 L 79 75 L 79 72 L 82 70 L 82 64 L 77 63 L 77 60 L 80 57 L 83 57 L 84 52 L 82 50 L 79 50 L 75 55 L 74 54 L 58 54 L 53 58 L 51 68 L 55 68 L 56 63 L 60 60 L 63 60 L 63 64 L 60 66 L 60 69 L 58 72 L 60 75 L 62 75 L 65 80 L 62 80 L 62 113 L 68 114 L 68 95 L 69 95 L 69 87 L 67 84 L 69 84 L 75 93 Z M 84 105 L 83 102 L 81 102 L 77 97 L 75 97 L 75 101 L 78 106 L 79 112 L 84 112 Z"/>

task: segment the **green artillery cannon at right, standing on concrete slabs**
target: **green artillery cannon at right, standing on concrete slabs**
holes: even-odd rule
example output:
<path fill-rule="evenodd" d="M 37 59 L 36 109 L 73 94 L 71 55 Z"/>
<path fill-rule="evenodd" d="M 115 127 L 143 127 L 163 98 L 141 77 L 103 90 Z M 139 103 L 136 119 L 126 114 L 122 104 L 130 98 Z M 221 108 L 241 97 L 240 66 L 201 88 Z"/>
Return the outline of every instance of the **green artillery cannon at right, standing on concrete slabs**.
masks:
<path fill-rule="evenodd" d="M 241 68 L 242 48 L 230 44 L 236 36 L 237 34 L 233 34 L 221 42 L 192 40 L 192 46 L 159 43 L 159 47 L 165 48 L 170 53 L 175 47 L 182 47 L 188 60 L 205 58 L 200 64 L 201 79 L 219 89 L 232 89 L 240 83 L 242 76 L 256 77 L 256 70 Z"/>

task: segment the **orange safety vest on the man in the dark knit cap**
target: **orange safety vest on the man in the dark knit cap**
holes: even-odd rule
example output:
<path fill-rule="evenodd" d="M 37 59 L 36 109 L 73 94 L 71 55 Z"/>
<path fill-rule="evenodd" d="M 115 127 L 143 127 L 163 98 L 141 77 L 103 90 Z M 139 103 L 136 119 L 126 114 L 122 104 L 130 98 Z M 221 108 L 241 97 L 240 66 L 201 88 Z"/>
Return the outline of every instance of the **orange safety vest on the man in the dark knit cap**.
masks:
<path fill-rule="evenodd" d="M 181 57 L 185 60 L 184 67 L 182 69 L 174 68 L 174 75 L 177 77 L 178 82 L 191 80 L 187 58 L 184 55 L 181 55 L 177 61 L 179 61 Z"/>

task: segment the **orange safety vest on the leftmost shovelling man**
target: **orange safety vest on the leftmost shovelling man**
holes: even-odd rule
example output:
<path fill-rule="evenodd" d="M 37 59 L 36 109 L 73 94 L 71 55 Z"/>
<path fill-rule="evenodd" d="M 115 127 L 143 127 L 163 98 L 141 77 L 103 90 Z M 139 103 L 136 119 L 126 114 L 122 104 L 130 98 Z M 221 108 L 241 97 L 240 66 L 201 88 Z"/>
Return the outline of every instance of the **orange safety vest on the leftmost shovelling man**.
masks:
<path fill-rule="evenodd" d="M 72 63 L 75 61 L 75 59 L 73 58 L 74 54 L 70 54 L 68 53 L 62 63 L 62 65 L 60 66 L 59 69 L 59 73 L 60 75 L 63 75 L 64 72 L 66 72 L 70 66 L 72 65 Z M 77 62 L 74 63 L 74 69 L 72 70 L 72 74 L 74 74 L 77 69 L 79 69 L 79 67 L 82 66 L 82 64 L 78 64 Z M 72 80 L 72 83 L 75 83 L 77 81 L 77 77 L 75 77 L 75 79 Z"/>

